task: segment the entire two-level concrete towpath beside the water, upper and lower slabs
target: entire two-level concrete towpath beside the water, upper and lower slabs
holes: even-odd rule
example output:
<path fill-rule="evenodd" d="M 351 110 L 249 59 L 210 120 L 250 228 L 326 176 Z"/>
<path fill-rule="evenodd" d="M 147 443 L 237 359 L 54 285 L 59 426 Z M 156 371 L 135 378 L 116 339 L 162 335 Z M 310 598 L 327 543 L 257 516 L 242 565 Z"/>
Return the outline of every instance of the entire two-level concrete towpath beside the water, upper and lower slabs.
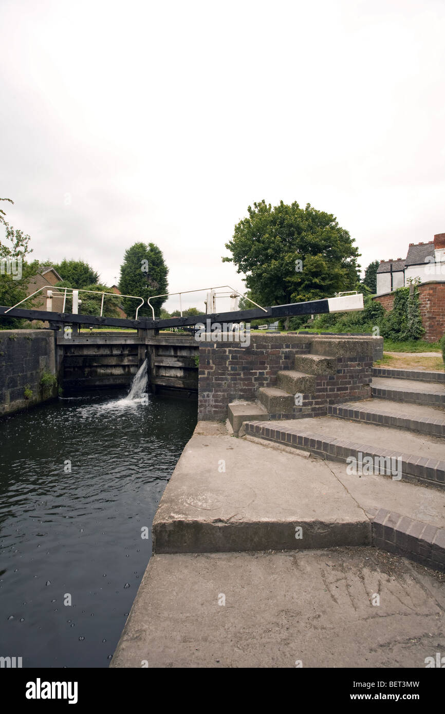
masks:
<path fill-rule="evenodd" d="M 444 491 L 199 423 L 111 667 L 424 667 L 444 575 L 370 547 L 382 508 L 445 527 Z"/>

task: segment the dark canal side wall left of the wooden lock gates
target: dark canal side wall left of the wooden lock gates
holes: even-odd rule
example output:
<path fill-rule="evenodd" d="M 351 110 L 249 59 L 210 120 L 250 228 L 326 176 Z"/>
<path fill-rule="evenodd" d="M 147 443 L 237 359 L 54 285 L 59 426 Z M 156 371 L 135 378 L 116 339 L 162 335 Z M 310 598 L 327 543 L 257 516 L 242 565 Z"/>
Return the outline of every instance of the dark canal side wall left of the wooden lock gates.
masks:
<path fill-rule="evenodd" d="M 56 388 L 41 386 L 42 374 L 56 371 L 54 354 L 52 330 L 0 330 L 0 416 L 56 395 Z"/>

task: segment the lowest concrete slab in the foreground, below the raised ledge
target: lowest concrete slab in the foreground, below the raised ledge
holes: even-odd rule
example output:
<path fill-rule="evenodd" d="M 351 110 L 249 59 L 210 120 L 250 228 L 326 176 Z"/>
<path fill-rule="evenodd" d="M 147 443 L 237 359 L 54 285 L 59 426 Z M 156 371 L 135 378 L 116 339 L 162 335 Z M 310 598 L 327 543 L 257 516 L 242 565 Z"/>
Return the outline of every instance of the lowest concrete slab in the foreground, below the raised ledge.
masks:
<path fill-rule="evenodd" d="M 424 668 L 444 612 L 439 575 L 376 548 L 154 555 L 110 666 Z"/>

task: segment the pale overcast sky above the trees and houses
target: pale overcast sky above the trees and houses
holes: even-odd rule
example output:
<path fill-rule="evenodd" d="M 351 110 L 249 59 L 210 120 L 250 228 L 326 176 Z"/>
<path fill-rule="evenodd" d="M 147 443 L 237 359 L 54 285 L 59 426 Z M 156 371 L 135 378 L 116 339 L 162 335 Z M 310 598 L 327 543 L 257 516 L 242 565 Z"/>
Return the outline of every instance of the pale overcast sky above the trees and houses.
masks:
<path fill-rule="evenodd" d="M 445 231 L 444 36 L 444 0 L 0 0 L 9 221 L 108 284 L 153 241 L 175 292 L 245 290 L 221 256 L 262 198 L 403 258 Z"/>

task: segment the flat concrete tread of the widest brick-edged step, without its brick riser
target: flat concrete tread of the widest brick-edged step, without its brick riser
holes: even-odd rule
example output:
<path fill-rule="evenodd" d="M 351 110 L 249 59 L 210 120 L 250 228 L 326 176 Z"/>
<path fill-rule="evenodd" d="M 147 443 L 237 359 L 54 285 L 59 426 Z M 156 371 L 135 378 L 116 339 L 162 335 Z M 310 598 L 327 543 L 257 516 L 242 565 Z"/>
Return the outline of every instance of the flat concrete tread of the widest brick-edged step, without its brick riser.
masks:
<path fill-rule="evenodd" d="M 357 448 L 363 453 L 391 451 L 393 456 L 423 459 L 425 464 L 427 461 L 434 464 L 439 461 L 443 464 L 442 468 L 445 468 L 444 441 L 435 436 L 410 432 L 407 438 L 404 431 L 396 428 L 350 422 L 332 416 L 261 421 L 261 426 L 264 429 L 283 429 L 294 434 L 311 434 L 326 443 L 336 441 L 349 444 L 351 448 Z"/>

